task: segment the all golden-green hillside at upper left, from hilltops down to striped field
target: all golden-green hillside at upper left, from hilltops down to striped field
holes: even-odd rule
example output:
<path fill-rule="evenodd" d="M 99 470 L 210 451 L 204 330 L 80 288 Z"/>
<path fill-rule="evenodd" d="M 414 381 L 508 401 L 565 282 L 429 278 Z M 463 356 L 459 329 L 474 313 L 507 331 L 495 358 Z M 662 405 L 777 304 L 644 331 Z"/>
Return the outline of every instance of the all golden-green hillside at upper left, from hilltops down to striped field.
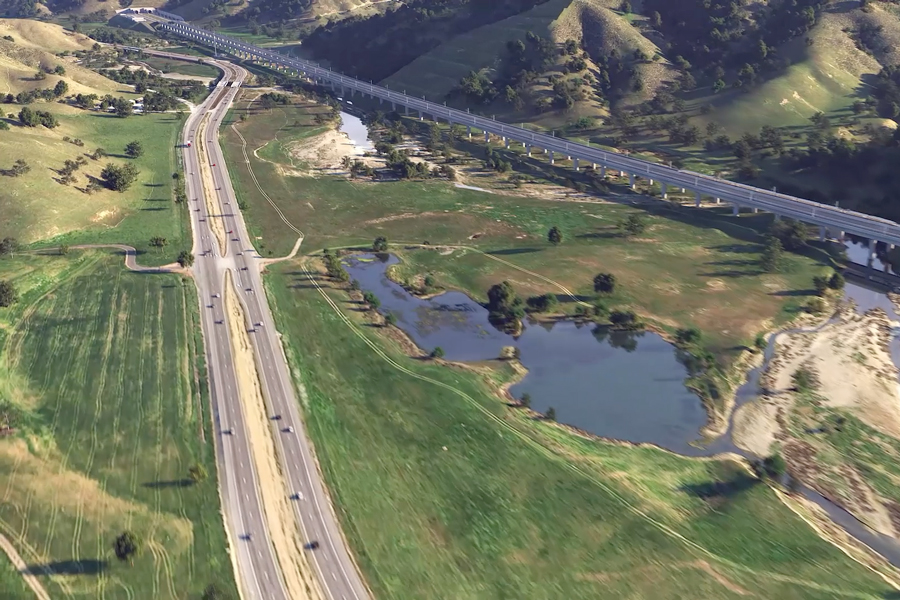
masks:
<path fill-rule="evenodd" d="M 138 95 L 131 86 L 83 68 L 74 56 L 55 55 L 90 48 L 94 42 L 85 36 L 65 32 L 57 25 L 18 20 L 0 21 L 0 33 L 14 40 L 0 39 L 0 67 L 5 67 L 0 69 L 0 114 L 10 127 L 0 130 L 0 169 L 9 169 L 17 159 L 31 167 L 18 177 L 0 176 L 0 212 L 5 217 L 0 220 L 0 237 L 11 235 L 24 243 L 119 242 L 146 251 L 150 237 L 160 235 L 169 246 L 164 252 L 147 255 L 145 262 L 171 262 L 185 244 L 189 245 L 182 207 L 172 201 L 171 174 L 177 170 L 175 146 L 183 118 L 169 113 L 123 119 L 64 101 L 37 101 L 31 108 L 55 115 L 59 127 L 25 127 L 15 117 L 22 106 L 3 103 L 6 93 L 52 88 L 62 80 L 69 87 L 69 96 Z M 35 80 L 35 72 L 42 65 L 61 65 L 65 74 L 48 74 L 44 80 Z M 66 138 L 80 139 L 84 145 Z M 144 155 L 130 161 L 140 170 L 138 180 L 124 193 L 102 189 L 88 194 L 90 179 L 99 179 L 107 163 L 129 160 L 123 149 L 133 140 L 144 145 Z M 104 148 L 109 157 L 87 158 L 96 148 Z M 76 172 L 75 182 L 64 185 L 59 170 L 66 160 L 79 158 L 86 158 L 85 164 Z"/>

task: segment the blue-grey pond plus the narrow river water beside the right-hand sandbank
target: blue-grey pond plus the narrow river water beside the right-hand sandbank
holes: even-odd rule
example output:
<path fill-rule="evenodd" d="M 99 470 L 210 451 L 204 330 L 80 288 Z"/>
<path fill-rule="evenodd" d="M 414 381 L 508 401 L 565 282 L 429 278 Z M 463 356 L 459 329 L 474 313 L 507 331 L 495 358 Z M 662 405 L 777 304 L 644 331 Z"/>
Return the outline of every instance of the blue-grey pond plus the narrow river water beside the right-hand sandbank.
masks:
<path fill-rule="evenodd" d="M 857 260 L 865 248 L 848 244 Z M 865 258 L 863 257 L 863 261 Z M 446 292 L 430 299 L 410 295 L 387 277 L 396 264 L 393 255 L 359 255 L 345 260 L 350 277 L 381 302 L 380 312 L 392 313 L 397 326 L 424 350 L 440 346 L 447 360 L 479 361 L 500 356 L 505 346 L 519 351 L 528 369 L 525 378 L 510 389 L 514 397 L 529 394 L 534 410 L 556 411 L 556 419 L 601 437 L 634 443 L 651 443 L 686 456 L 710 456 L 734 452 L 757 458 L 731 440 L 731 428 L 708 446 L 700 443 L 706 411 L 700 399 L 684 386 L 687 369 L 677 360 L 675 348 L 651 332 L 612 332 L 593 324 L 572 321 L 552 324 L 525 323 L 521 335 L 502 333 L 487 318 L 487 310 L 461 292 Z M 876 263 L 875 268 L 883 268 Z M 883 308 L 888 316 L 900 316 L 881 293 L 848 284 L 846 297 L 862 311 Z M 774 353 L 778 335 L 770 336 L 764 364 Z M 900 361 L 900 339 L 891 349 Z M 736 395 L 736 407 L 757 398 L 763 367 L 753 369 Z M 733 414 L 733 413 L 732 413 Z M 850 535 L 900 567 L 900 542 L 871 531 L 853 515 L 814 490 L 802 493 L 822 507 Z"/>

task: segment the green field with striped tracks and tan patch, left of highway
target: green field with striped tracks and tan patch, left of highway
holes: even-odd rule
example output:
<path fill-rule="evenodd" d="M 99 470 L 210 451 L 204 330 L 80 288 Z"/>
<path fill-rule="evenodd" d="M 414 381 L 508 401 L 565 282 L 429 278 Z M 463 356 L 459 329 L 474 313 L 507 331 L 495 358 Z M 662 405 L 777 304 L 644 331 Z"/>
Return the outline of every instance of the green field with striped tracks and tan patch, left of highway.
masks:
<path fill-rule="evenodd" d="M 0 531 L 53 598 L 234 595 L 193 283 L 121 260 L 0 261 L 22 294 L 0 310 L 0 395 L 31 419 L 0 440 Z M 131 566 L 112 552 L 126 529 Z"/>

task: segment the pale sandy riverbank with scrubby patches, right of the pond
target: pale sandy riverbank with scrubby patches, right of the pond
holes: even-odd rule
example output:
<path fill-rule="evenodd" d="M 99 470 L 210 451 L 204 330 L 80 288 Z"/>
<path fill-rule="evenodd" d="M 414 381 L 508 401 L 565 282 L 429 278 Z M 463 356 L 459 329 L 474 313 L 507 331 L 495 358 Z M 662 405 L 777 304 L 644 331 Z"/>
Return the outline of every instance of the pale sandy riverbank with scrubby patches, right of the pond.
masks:
<path fill-rule="evenodd" d="M 900 439 L 900 387 L 889 349 L 895 325 L 883 310 L 861 315 L 843 305 L 818 330 L 781 335 L 761 378 L 766 393 L 735 413 L 733 439 L 759 456 L 780 448 L 792 474 L 875 531 L 898 537 L 897 503 L 879 495 L 864 472 L 878 471 L 877 462 L 861 468 L 822 429 L 828 415 L 846 414 Z M 814 400 L 795 391 L 801 367 L 818 378 Z"/>

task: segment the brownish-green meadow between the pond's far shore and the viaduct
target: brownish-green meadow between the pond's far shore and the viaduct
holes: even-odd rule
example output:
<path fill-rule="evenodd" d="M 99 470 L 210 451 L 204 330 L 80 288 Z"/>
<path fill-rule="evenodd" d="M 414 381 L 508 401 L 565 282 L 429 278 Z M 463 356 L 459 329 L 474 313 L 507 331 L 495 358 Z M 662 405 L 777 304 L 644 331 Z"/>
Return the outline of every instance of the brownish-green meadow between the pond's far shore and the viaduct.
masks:
<path fill-rule="evenodd" d="M 305 109 L 258 113 L 238 125 L 255 175 L 285 218 L 306 235 L 307 253 L 367 246 L 379 235 L 398 243 L 427 240 L 468 246 L 480 252 L 406 252 L 404 268 L 408 275 L 432 272 L 445 287 L 458 287 L 480 299 L 503 279 L 526 296 L 560 293 L 538 276 L 589 297 L 594 275 L 610 272 L 621 290 L 609 299 L 611 305 L 631 306 L 664 327 L 699 326 L 722 355 L 791 316 L 821 268 L 815 260 L 790 255 L 781 273 L 760 273 L 758 230 L 771 218 L 762 214 L 734 219 L 716 209 L 669 210 L 662 204 L 645 209 L 625 202 L 488 195 L 439 182 L 373 184 L 282 176 L 295 166 L 284 152 L 285 144 L 311 126 Z M 296 234 L 250 180 L 240 140 L 230 128 L 225 151 L 234 165 L 236 191 L 250 207 L 251 230 L 261 238 L 257 243 L 264 254 L 286 254 Z M 633 196 L 619 199 L 628 197 Z M 635 212 L 647 216 L 647 231 L 624 240 L 615 225 Z M 559 247 L 546 241 L 554 225 L 565 236 Z"/>

